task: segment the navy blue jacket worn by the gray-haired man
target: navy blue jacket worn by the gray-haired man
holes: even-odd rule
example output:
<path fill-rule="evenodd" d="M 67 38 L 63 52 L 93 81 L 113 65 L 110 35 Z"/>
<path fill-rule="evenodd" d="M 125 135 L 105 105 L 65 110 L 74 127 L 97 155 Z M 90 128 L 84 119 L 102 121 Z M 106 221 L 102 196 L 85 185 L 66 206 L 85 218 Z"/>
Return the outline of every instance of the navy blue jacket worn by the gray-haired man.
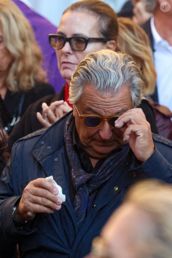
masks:
<path fill-rule="evenodd" d="M 20 139 L 0 179 L 0 250 L 19 243 L 20 255 L 34 257 L 84 257 L 112 212 L 120 205 L 128 187 L 138 178 L 159 178 L 172 183 L 172 141 L 154 135 L 155 152 L 140 166 L 130 151 L 123 167 L 100 189 L 93 207 L 78 233 L 69 196 L 69 168 L 63 129 L 69 114 L 48 129 Z M 52 214 L 38 213 L 27 227 L 15 227 L 12 208 L 28 182 L 53 175 L 66 202 Z M 116 187 L 117 186 L 117 187 Z"/>

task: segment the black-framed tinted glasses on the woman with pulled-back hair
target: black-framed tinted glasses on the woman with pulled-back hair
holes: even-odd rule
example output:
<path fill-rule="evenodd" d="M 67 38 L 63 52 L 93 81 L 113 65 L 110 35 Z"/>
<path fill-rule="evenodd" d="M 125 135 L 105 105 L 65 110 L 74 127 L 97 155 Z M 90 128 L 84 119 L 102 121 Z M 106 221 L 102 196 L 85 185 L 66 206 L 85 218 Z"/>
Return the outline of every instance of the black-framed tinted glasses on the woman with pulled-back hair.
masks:
<path fill-rule="evenodd" d="M 103 38 L 85 38 L 85 37 L 71 37 L 65 38 L 58 34 L 49 34 L 50 46 L 53 49 L 62 49 L 66 42 L 69 42 L 71 49 L 75 51 L 83 51 L 89 42 L 103 42 L 106 43 L 109 39 Z"/>

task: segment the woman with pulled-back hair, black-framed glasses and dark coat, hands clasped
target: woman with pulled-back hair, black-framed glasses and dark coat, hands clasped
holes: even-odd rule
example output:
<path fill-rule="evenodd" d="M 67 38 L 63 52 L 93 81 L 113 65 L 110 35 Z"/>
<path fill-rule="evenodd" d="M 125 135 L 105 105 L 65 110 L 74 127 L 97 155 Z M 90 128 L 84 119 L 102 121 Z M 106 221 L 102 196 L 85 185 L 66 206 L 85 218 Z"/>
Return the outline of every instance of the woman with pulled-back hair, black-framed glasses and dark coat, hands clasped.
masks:
<path fill-rule="evenodd" d="M 79 1 L 63 13 L 56 34 L 49 34 L 50 46 L 55 49 L 60 74 L 66 85 L 58 94 L 46 96 L 28 107 L 23 118 L 9 137 L 9 151 L 20 137 L 48 127 L 72 110 L 68 102 L 71 76 L 80 61 L 100 49 L 116 50 L 118 35 L 117 15 L 106 3 L 99 0 Z M 149 123 L 155 125 L 151 108 L 144 104 Z M 150 112 L 149 112 L 150 111 Z M 156 125 L 154 126 L 157 133 Z"/>

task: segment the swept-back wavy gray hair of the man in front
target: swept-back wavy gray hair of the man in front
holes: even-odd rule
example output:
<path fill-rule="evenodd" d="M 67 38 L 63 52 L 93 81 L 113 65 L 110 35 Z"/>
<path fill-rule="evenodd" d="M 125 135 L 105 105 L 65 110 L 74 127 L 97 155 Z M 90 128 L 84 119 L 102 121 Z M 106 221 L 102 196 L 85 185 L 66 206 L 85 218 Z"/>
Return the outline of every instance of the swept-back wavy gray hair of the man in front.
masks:
<path fill-rule="evenodd" d="M 134 107 L 143 97 L 143 82 L 135 62 L 130 56 L 112 50 L 90 53 L 79 63 L 69 87 L 71 104 L 79 100 L 86 85 L 102 94 L 115 94 L 127 85 Z"/>

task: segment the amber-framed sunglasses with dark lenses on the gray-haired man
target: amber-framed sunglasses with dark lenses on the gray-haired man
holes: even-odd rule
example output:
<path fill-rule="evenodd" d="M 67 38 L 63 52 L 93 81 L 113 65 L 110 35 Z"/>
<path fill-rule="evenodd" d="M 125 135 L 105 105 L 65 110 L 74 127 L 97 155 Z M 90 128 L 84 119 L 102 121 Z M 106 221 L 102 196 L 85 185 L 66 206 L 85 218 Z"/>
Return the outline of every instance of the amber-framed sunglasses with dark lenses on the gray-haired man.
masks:
<path fill-rule="evenodd" d="M 74 104 L 75 109 L 77 110 L 77 113 L 79 115 L 79 118 L 81 118 L 82 123 L 89 128 L 93 128 L 93 127 L 98 127 L 101 125 L 103 120 L 107 120 L 109 125 L 112 128 L 115 128 L 115 121 L 118 119 L 118 117 L 120 117 L 120 115 L 112 115 L 112 116 L 108 116 L 108 117 L 102 117 L 100 115 L 81 115 L 76 107 L 76 105 Z"/>

